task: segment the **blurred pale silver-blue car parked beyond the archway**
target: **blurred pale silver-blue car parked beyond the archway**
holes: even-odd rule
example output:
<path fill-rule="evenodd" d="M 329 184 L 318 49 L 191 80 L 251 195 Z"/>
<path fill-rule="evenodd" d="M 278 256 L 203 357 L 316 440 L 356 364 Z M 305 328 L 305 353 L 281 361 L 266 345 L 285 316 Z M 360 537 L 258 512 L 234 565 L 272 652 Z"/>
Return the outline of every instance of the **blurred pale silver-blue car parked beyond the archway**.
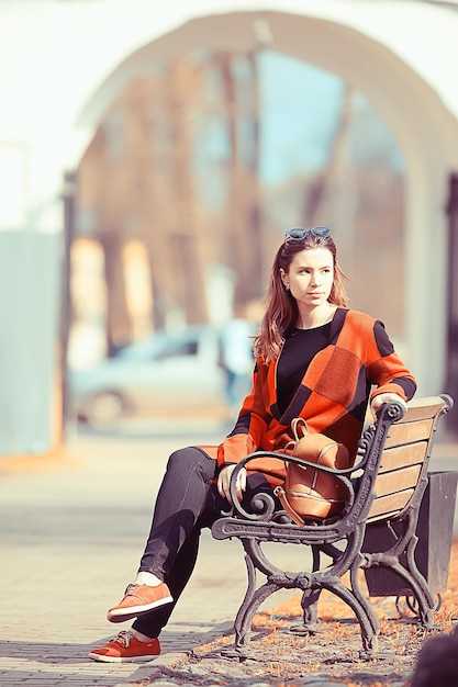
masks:
<path fill-rule="evenodd" d="M 221 413 L 219 331 L 205 325 L 158 331 L 94 367 L 70 371 L 68 386 L 74 416 L 93 426 L 132 415 Z"/>

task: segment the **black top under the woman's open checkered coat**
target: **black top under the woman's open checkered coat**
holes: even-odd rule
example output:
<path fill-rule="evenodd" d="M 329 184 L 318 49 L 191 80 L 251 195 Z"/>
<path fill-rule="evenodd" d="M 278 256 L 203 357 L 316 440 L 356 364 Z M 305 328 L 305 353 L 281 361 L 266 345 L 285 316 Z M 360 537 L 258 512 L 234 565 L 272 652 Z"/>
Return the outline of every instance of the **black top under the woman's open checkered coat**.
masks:
<path fill-rule="evenodd" d="M 290 330 L 277 365 L 277 403 L 281 414 L 292 401 L 312 358 L 329 344 L 331 322 L 313 329 Z"/>

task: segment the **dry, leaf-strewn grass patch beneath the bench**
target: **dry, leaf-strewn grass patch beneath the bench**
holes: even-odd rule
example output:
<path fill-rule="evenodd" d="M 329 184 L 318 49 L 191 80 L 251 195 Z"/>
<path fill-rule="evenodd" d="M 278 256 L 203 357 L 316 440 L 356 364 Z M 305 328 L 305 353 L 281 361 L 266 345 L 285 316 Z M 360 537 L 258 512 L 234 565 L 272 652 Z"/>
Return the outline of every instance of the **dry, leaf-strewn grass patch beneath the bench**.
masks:
<path fill-rule="evenodd" d="M 361 587 L 365 588 L 361 573 Z M 345 579 L 344 579 L 345 582 Z M 199 674 L 208 667 L 225 675 L 224 685 L 231 672 L 241 684 L 249 684 L 248 678 L 261 678 L 268 684 L 294 687 L 294 679 L 301 676 L 319 676 L 328 682 L 344 683 L 348 687 L 390 687 L 392 682 L 401 682 L 409 687 L 409 675 L 414 668 L 416 656 L 425 639 L 432 634 L 449 633 L 458 616 L 456 604 L 458 593 L 458 540 L 453 542 L 448 589 L 442 594 L 442 607 L 435 613 L 437 630 L 426 632 L 402 619 L 393 597 L 371 598 L 380 622 L 380 654 L 371 662 L 361 661 L 359 652 L 361 639 L 359 624 L 351 610 L 335 595 L 323 592 L 319 604 L 321 631 L 316 635 L 298 637 L 289 632 L 289 627 L 300 621 L 301 595 L 295 594 L 275 608 L 261 610 L 255 616 L 250 650 L 253 658 L 244 663 L 232 663 L 219 658 L 221 649 L 233 644 L 234 638 L 222 635 L 199 646 L 188 666 L 188 673 L 199 664 Z M 235 666 L 235 667 L 234 667 Z M 242 667 L 241 667 L 242 666 Z M 344 682 L 347 680 L 347 682 Z M 204 684 L 196 680 L 196 684 Z M 214 684 L 214 683 L 213 683 Z"/>

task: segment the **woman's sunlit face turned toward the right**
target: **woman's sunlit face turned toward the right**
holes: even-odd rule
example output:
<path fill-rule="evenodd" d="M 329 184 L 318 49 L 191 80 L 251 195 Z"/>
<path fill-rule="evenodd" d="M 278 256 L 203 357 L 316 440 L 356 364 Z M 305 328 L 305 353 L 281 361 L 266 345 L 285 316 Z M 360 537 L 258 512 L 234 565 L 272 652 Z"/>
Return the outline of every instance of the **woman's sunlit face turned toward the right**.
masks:
<path fill-rule="evenodd" d="M 301 250 L 295 254 L 288 272 L 280 270 L 280 275 L 298 305 L 316 307 L 327 301 L 333 288 L 333 254 L 327 248 Z"/>

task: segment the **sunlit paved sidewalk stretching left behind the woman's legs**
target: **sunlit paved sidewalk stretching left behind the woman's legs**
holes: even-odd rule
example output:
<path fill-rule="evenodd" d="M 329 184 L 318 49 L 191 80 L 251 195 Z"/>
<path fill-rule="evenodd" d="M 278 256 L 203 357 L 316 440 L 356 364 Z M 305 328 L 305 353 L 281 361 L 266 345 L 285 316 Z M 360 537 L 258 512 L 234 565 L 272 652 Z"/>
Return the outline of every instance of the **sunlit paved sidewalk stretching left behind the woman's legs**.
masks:
<path fill-rule="evenodd" d="M 155 665 L 231 627 L 245 588 L 241 544 L 205 532 L 193 578 L 161 637 L 161 657 L 139 667 L 87 658 L 124 627 L 105 620 L 107 608 L 135 574 L 168 454 L 222 437 L 215 428 L 198 430 L 81 436 L 53 460 L 0 459 L 2 686 L 139 683 Z M 438 444 L 435 453 L 433 469 L 458 468 L 457 447 Z M 293 549 L 288 555 L 303 555 Z"/>

